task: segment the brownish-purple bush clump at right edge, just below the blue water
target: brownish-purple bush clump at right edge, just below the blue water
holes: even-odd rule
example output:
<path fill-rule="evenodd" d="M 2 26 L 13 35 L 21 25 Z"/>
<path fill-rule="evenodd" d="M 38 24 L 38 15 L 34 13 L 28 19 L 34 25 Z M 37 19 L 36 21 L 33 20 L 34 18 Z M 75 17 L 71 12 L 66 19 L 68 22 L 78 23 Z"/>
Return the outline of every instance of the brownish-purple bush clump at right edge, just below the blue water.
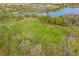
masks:
<path fill-rule="evenodd" d="M 67 16 L 67 15 L 64 15 L 64 16 L 61 16 L 60 18 L 62 18 L 62 21 L 63 21 L 63 25 L 66 25 L 66 26 L 79 26 L 79 17 L 70 17 L 70 16 Z"/>

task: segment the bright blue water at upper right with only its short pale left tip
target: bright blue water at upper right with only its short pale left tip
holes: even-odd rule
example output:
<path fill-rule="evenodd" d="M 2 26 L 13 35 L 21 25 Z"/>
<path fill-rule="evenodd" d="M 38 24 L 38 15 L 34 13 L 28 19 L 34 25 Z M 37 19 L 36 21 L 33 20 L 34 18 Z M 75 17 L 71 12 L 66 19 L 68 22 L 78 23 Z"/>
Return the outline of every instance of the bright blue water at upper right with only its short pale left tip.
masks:
<path fill-rule="evenodd" d="M 51 16 L 51 17 L 59 17 L 62 15 L 67 15 L 67 14 L 74 14 L 74 15 L 79 15 L 79 8 L 64 8 L 61 10 L 58 10 L 56 12 L 48 12 L 48 13 L 38 13 L 37 15 L 39 16 Z"/>

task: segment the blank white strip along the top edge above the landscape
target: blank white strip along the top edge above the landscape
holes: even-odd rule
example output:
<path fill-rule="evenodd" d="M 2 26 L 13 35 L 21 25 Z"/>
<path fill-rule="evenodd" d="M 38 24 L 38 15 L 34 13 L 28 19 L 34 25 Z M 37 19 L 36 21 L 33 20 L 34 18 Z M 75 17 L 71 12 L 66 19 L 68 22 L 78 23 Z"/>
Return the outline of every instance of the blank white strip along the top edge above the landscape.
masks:
<path fill-rule="evenodd" d="M 79 0 L 0 0 L 0 3 L 79 3 Z"/>

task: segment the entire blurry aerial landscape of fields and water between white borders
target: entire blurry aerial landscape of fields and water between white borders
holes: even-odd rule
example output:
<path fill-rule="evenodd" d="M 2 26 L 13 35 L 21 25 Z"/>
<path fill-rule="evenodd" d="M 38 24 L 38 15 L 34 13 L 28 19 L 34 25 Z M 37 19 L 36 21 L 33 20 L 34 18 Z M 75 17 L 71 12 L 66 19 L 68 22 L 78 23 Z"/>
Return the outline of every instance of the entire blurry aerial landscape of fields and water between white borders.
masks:
<path fill-rule="evenodd" d="M 79 56 L 79 4 L 0 4 L 0 56 Z"/>

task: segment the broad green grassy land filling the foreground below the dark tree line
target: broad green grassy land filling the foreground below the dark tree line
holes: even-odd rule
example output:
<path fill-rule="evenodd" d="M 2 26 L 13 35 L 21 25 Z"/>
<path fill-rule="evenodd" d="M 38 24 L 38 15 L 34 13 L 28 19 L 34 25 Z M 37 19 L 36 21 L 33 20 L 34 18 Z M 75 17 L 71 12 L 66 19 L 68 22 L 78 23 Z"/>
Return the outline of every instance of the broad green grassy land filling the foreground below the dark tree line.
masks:
<path fill-rule="evenodd" d="M 73 32 L 79 35 L 79 30 L 43 24 L 37 18 L 14 20 L 0 26 L 0 47 L 5 55 L 79 55 L 79 38 L 68 40 Z"/>

